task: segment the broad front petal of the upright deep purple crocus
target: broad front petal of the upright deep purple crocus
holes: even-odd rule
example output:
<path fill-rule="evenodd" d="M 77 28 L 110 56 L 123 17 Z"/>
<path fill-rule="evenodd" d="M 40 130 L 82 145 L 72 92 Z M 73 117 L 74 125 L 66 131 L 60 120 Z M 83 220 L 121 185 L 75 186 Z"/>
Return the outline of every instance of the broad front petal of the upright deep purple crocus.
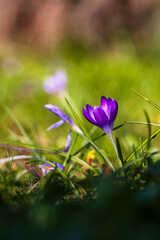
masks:
<path fill-rule="evenodd" d="M 100 128 L 103 129 L 104 126 L 108 125 L 108 118 L 103 109 L 101 109 L 98 106 L 94 107 L 94 116 L 96 119 L 96 122 Z"/>

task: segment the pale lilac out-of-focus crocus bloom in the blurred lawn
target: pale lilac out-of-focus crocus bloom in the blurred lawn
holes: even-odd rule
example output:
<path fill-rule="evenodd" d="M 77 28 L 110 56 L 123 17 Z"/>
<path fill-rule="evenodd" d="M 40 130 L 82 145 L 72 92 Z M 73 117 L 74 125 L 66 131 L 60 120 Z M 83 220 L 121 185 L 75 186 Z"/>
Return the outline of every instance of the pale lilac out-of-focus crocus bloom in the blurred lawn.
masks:
<path fill-rule="evenodd" d="M 43 89 L 48 94 L 60 94 L 67 86 L 65 71 L 58 70 L 52 76 L 47 77 L 43 83 Z"/>

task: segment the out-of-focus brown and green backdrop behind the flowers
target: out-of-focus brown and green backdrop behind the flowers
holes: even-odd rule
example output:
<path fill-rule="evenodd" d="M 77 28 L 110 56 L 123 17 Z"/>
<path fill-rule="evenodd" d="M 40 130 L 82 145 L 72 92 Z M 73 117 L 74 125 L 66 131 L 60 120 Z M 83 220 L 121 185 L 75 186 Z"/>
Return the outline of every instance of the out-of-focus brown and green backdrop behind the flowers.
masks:
<path fill-rule="evenodd" d="M 1 0 L 0 9 L 1 142 L 20 140 L 6 105 L 33 142 L 62 147 L 69 127 L 47 132 L 57 118 L 43 105 L 57 105 L 71 115 L 64 97 L 88 130 L 82 107 L 99 105 L 102 95 L 118 101 L 115 125 L 145 121 L 144 109 L 160 123 L 158 110 L 130 90 L 160 103 L 158 1 Z M 59 69 L 68 79 L 61 98 L 43 91 L 44 79 Z M 116 136 L 130 149 L 147 134 L 146 127 L 126 125 Z"/>

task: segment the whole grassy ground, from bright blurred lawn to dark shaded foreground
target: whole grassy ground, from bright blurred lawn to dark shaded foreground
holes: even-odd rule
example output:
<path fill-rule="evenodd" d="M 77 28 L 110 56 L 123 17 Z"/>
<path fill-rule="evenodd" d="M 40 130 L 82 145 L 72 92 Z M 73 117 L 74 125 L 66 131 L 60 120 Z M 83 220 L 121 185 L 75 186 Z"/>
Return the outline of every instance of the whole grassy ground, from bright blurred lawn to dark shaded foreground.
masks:
<path fill-rule="evenodd" d="M 160 69 L 136 54 L 73 53 L 1 57 L 0 137 L 8 143 L 0 145 L 0 158 L 8 161 L 0 167 L 2 227 L 9 227 L 11 239 L 30 238 L 28 229 L 35 232 L 34 239 L 41 233 L 46 239 L 128 239 L 128 232 L 141 239 L 140 225 L 152 239 L 159 228 L 154 223 L 159 216 L 160 112 L 130 89 L 159 105 Z M 58 69 L 68 77 L 63 97 L 48 95 L 42 87 L 44 78 Z M 113 129 L 119 160 L 108 136 L 82 114 L 86 104 L 100 105 L 101 96 L 119 105 Z M 72 131 L 67 153 L 71 127 L 46 131 L 59 118 L 45 104 L 60 107 L 84 133 Z M 16 162 L 20 157 L 30 160 L 30 173 L 44 163 L 54 168 L 57 162 L 65 169 L 55 167 L 38 177 L 27 172 L 26 162 Z M 18 233 L 17 226 L 22 227 Z"/>

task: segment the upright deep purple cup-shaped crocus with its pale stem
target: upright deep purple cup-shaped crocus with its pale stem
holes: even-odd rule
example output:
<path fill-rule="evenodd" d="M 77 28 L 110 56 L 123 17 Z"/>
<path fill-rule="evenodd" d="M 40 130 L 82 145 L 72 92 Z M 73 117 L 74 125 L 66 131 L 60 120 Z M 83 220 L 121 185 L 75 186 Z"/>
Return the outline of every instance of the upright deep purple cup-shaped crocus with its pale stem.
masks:
<path fill-rule="evenodd" d="M 102 96 L 101 107 L 95 106 L 93 108 L 87 104 L 86 109 L 83 107 L 83 115 L 85 118 L 93 125 L 101 128 L 110 137 L 118 156 L 117 148 L 112 136 L 113 125 L 118 112 L 118 104 L 116 100 L 111 98 L 107 99 Z"/>

